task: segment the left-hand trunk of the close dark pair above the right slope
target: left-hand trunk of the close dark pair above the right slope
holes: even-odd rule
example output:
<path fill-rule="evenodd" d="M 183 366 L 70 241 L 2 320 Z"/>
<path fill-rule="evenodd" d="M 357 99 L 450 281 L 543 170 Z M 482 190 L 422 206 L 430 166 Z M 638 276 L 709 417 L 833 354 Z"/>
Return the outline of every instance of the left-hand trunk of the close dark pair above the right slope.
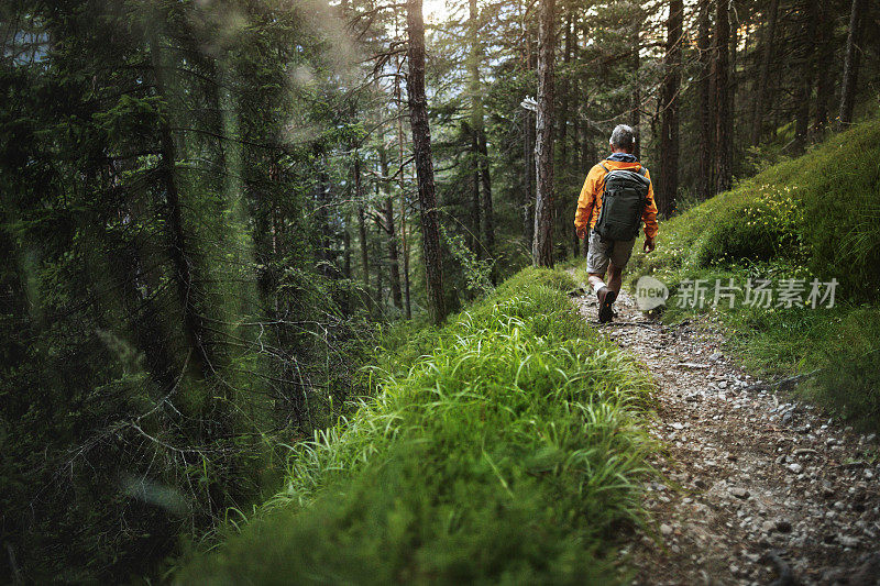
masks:
<path fill-rule="evenodd" d="M 713 151 L 715 107 L 712 100 L 712 40 L 710 36 L 710 10 L 712 0 L 701 0 L 697 22 L 697 48 L 700 51 L 700 169 L 697 191 L 701 198 L 712 194 L 715 156 Z"/>

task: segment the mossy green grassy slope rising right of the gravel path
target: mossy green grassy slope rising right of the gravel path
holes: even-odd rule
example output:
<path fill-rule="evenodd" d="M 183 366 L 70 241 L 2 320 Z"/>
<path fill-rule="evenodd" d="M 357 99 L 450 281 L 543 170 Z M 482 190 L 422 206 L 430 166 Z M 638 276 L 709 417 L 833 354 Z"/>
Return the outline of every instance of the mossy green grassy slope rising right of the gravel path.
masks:
<path fill-rule="evenodd" d="M 662 223 L 656 253 L 634 255 L 630 279 L 670 285 L 664 319 L 722 320 L 750 368 L 765 375 L 818 369 L 798 388 L 834 413 L 880 429 L 880 121 L 833 136 Z M 836 279 L 835 307 L 676 307 L 676 285 L 715 279 Z M 745 288 L 745 287 L 744 287 Z M 823 306 L 827 305 L 827 301 Z"/>

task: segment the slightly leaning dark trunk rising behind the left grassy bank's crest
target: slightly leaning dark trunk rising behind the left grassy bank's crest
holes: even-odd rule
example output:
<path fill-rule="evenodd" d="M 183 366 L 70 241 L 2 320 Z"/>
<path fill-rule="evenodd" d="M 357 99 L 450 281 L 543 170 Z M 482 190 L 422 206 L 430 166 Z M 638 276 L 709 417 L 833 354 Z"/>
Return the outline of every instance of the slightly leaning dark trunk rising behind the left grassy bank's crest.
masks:
<path fill-rule="evenodd" d="M 421 0 L 407 0 L 406 15 L 409 36 L 407 97 L 418 177 L 428 314 L 432 323 L 439 324 L 447 317 L 447 311 L 440 258 L 440 222 L 437 213 L 433 161 L 431 158 L 431 130 L 428 125 L 428 100 L 425 95 L 425 21 L 421 13 Z"/>

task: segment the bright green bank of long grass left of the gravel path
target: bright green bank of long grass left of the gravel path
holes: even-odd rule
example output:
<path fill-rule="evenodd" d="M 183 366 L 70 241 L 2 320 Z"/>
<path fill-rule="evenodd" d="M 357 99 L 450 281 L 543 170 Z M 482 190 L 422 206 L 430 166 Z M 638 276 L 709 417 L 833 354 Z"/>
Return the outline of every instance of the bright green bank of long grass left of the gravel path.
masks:
<path fill-rule="evenodd" d="M 647 374 L 525 269 L 440 330 L 381 336 L 375 398 L 180 583 L 616 583 L 653 473 Z"/>

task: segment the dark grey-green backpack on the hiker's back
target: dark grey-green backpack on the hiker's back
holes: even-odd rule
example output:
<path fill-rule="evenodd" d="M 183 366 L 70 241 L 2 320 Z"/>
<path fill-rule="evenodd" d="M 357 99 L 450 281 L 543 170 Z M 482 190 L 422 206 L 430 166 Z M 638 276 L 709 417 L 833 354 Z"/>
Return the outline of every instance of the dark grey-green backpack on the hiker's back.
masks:
<path fill-rule="evenodd" d="M 614 169 L 605 165 L 605 187 L 602 194 L 602 209 L 593 231 L 603 241 L 632 240 L 639 235 L 641 213 L 648 203 L 648 189 L 651 180 L 648 170 Z"/>

